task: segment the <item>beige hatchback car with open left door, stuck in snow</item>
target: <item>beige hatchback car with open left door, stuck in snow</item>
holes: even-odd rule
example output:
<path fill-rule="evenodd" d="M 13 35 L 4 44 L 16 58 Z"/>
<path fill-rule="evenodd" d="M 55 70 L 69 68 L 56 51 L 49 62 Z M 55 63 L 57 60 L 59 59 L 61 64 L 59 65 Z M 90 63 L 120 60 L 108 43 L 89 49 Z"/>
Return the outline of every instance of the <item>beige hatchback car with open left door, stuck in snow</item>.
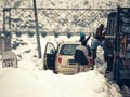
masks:
<path fill-rule="evenodd" d="M 51 69 L 55 73 L 74 74 L 76 63 L 74 59 L 74 53 L 80 42 L 63 42 L 58 46 L 55 46 L 48 42 L 44 51 L 43 68 L 44 70 Z M 86 71 L 92 69 L 91 65 L 88 65 Z"/>

